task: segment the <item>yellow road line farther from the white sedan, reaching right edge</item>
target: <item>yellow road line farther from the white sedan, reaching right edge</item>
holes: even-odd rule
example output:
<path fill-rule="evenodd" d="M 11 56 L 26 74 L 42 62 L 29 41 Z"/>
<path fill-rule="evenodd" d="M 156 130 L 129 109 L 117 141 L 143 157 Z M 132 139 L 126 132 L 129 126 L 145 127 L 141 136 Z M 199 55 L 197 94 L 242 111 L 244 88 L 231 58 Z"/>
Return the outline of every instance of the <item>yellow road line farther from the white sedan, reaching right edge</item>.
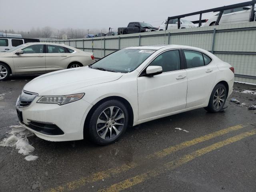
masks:
<path fill-rule="evenodd" d="M 170 171 L 179 166 L 182 166 L 183 164 L 190 162 L 194 158 L 200 157 L 208 152 L 211 152 L 213 150 L 216 150 L 216 149 L 226 146 L 228 144 L 234 143 L 234 142 L 239 141 L 248 136 L 252 136 L 254 134 L 256 134 L 256 130 L 251 130 L 249 132 L 245 132 L 245 133 L 239 134 L 237 136 L 228 138 L 224 141 L 214 143 L 210 146 L 196 150 L 190 154 L 184 155 L 181 158 L 179 158 L 178 160 L 173 160 L 171 162 L 168 162 L 168 163 L 164 164 L 164 166 L 155 168 L 154 170 L 150 170 L 143 174 L 140 174 L 140 175 L 134 176 L 132 178 L 129 178 L 127 180 L 121 181 L 119 183 L 113 184 L 109 188 L 98 190 L 98 192 L 118 192 L 118 191 L 127 189 L 129 187 L 140 184 L 140 183 L 144 182 L 145 180 L 148 180 L 150 178 L 153 178 L 155 176 L 163 174 L 166 171 Z"/>

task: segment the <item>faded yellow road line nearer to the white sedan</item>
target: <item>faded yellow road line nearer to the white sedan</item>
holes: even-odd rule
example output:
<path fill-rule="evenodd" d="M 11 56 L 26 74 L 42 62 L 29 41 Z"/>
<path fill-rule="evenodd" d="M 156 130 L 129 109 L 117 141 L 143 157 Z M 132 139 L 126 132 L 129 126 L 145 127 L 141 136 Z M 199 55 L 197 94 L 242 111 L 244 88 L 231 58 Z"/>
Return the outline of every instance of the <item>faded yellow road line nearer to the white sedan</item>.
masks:
<path fill-rule="evenodd" d="M 173 152 L 176 152 L 178 150 L 182 150 L 186 147 L 192 146 L 194 144 L 198 144 L 200 142 L 204 142 L 206 140 L 210 140 L 212 138 L 215 138 L 217 136 L 220 135 L 224 135 L 227 134 L 228 132 L 232 132 L 238 129 L 243 128 L 242 125 L 236 125 L 236 126 L 232 126 L 232 127 L 228 127 L 226 129 L 222 129 L 219 130 L 217 132 L 213 132 L 210 134 L 207 134 L 205 136 L 201 136 L 198 138 L 195 138 L 193 140 L 190 141 L 186 141 L 186 142 L 182 142 L 178 145 L 175 146 L 170 146 L 168 148 L 165 148 L 163 150 L 160 150 L 154 154 L 148 155 L 146 158 L 161 158 L 164 157 L 168 154 L 171 154 Z M 67 184 L 63 185 L 63 186 L 58 186 L 56 188 L 52 188 L 50 190 L 48 190 L 47 192 L 63 192 L 63 191 L 70 191 L 70 190 L 75 190 L 81 186 L 86 185 L 86 183 L 88 182 L 95 182 L 97 180 L 102 180 L 104 178 L 108 178 L 110 177 L 112 174 L 118 174 L 118 173 L 122 173 L 122 172 L 126 172 L 127 170 L 130 170 L 134 167 L 138 166 L 138 164 L 136 163 L 130 163 L 130 164 L 123 164 L 120 167 L 117 168 L 113 168 L 113 169 L 109 169 L 109 170 L 103 170 L 97 173 L 92 174 L 91 176 L 88 177 L 82 177 L 78 180 L 74 180 L 72 182 L 68 182 Z"/>

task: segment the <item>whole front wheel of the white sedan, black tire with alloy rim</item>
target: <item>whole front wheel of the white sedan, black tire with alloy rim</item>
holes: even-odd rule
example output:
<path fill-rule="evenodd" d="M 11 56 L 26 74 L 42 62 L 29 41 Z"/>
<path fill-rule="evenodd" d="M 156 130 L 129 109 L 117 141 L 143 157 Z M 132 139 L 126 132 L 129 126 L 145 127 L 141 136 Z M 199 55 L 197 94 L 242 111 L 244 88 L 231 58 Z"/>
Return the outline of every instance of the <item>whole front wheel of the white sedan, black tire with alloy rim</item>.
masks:
<path fill-rule="evenodd" d="M 94 110 L 86 124 L 88 127 L 85 134 L 95 144 L 111 144 L 122 137 L 128 126 L 128 119 L 128 110 L 122 102 L 108 100 Z"/>

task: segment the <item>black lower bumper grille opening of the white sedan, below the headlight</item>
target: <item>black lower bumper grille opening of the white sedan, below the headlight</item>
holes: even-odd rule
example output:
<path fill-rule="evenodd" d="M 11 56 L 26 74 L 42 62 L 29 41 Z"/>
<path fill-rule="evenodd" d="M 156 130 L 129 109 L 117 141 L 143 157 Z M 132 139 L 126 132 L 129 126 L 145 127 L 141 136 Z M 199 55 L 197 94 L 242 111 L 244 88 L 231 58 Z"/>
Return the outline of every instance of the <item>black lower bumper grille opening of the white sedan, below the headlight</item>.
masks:
<path fill-rule="evenodd" d="M 35 130 L 37 132 L 46 134 L 46 135 L 63 135 L 64 132 L 55 124 L 48 123 L 48 122 L 38 122 L 30 120 L 28 122 L 28 125 L 26 125 L 32 130 Z"/>

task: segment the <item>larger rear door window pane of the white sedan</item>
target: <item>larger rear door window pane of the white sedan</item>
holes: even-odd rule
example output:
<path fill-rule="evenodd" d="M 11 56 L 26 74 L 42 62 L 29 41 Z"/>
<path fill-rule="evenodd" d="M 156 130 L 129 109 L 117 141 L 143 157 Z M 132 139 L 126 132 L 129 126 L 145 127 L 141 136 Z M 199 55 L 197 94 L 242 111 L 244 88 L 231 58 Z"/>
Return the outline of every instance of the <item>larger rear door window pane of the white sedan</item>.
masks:
<path fill-rule="evenodd" d="M 201 52 L 192 51 L 192 50 L 184 50 L 184 54 L 186 57 L 187 68 L 195 68 L 204 66 L 204 58 Z"/>

